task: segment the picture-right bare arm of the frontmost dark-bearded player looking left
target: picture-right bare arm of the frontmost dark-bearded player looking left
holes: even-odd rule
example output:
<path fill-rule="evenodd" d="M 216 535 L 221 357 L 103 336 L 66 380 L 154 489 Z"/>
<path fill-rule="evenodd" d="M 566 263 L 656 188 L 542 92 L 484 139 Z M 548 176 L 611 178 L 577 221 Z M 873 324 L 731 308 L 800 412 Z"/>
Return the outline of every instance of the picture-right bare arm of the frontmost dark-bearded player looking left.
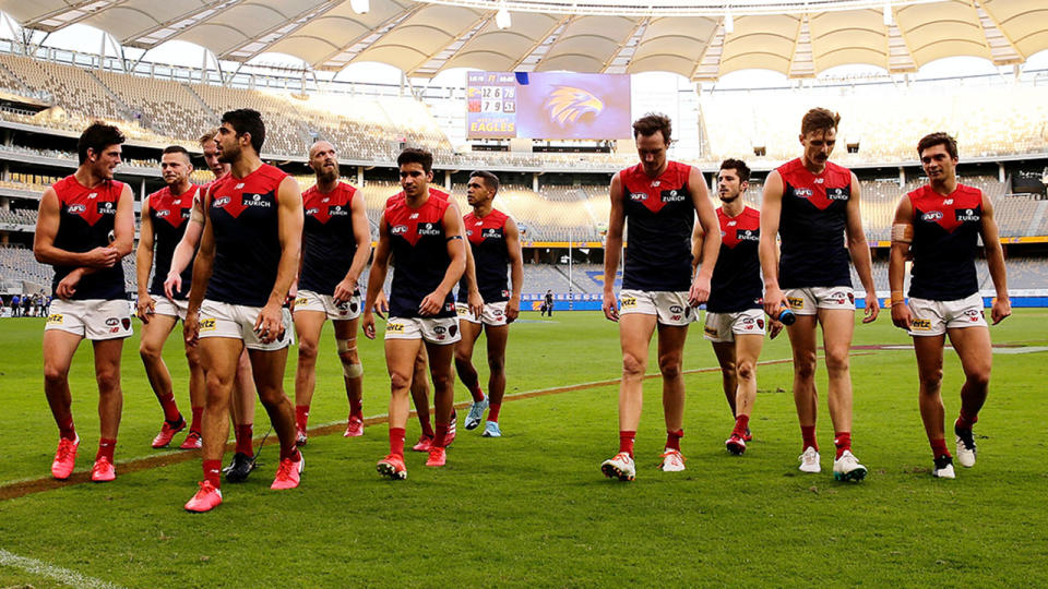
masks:
<path fill-rule="evenodd" d="M 291 283 L 298 276 L 299 257 L 302 254 L 302 192 L 294 177 L 286 177 L 277 188 L 277 227 L 281 239 L 281 262 L 270 299 L 259 312 L 254 329 L 264 344 L 284 337 L 284 315 L 281 309 L 287 300 Z"/>

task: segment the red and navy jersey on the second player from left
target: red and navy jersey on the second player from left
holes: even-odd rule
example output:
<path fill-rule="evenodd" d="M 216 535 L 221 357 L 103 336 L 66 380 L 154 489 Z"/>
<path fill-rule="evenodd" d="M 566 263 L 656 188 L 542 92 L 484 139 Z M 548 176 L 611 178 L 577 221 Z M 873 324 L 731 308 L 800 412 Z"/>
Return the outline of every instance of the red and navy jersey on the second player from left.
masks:
<path fill-rule="evenodd" d="M 199 187 L 190 184 L 189 190 L 176 196 L 171 194 L 170 188 L 164 187 L 146 196 L 150 203 L 150 221 L 153 224 L 154 271 L 150 294 L 164 294 L 164 280 L 171 269 L 175 247 L 189 227 L 189 217 L 193 213 L 198 191 Z M 189 296 L 192 278 L 193 265 L 189 264 L 182 271 L 181 290 L 174 292 L 176 299 L 186 299 Z"/>

